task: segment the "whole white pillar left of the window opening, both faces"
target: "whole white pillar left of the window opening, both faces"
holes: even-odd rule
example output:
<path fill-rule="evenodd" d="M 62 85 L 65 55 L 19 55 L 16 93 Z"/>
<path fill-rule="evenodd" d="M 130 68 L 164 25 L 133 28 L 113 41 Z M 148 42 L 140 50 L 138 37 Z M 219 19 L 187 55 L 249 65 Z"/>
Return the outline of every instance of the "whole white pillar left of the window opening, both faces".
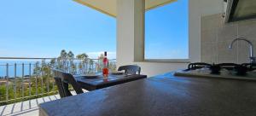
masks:
<path fill-rule="evenodd" d="M 117 65 L 144 59 L 144 0 L 117 1 Z"/>

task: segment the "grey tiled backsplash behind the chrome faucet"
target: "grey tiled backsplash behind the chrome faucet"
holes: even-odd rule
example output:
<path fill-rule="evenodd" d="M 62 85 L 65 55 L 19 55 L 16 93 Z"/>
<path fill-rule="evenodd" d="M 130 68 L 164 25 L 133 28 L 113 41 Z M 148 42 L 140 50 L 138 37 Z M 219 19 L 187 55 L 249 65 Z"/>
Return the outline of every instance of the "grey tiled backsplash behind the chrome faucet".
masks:
<path fill-rule="evenodd" d="M 247 38 L 256 45 L 256 20 L 241 20 L 225 24 L 222 14 L 212 14 L 201 18 L 201 61 L 214 63 L 248 63 L 249 45 L 237 41 L 229 49 L 231 42 L 238 37 Z M 253 49 L 256 55 L 256 48 Z"/>

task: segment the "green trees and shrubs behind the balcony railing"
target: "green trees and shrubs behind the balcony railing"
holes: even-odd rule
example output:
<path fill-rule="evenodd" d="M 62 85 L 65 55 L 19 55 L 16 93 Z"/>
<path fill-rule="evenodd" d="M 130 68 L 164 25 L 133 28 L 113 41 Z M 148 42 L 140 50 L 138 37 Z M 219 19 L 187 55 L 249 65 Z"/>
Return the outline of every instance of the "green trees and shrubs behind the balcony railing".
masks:
<path fill-rule="evenodd" d="M 75 57 L 72 51 L 66 52 L 63 49 L 61 55 L 56 59 L 48 62 L 44 59 L 41 62 L 37 61 L 30 77 L 0 79 L 8 84 L 7 86 L 6 83 L 0 83 L 0 106 L 54 95 L 57 93 L 57 88 L 51 69 L 60 69 L 72 74 L 98 73 L 102 72 L 102 59 L 103 55 L 100 55 L 96 60 L 90 59 L 86 54 L 79 54 Z M 116 70 L 115 61 L 109 61 L 108 67 L 110 71 Z"/>

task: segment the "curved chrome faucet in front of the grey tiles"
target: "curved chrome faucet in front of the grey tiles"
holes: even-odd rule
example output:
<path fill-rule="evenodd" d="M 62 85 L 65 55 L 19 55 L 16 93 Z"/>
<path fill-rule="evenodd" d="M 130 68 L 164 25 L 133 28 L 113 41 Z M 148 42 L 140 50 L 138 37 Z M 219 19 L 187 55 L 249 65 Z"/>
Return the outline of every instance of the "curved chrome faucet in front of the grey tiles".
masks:
<path fill-rule="evenodd" d="M 231 42 L 231 44 L 230 44 L 230 49 L 232 49 L 232 46 L 233 46 L 233 44 L 236 42 L 236 41 L 246 41 L 247 42 L 247 44 L 249 44 L 249 46 L 250 46 L 250 61 L 251 61 L 251 63 L 256 63 L 256 57 L 254 57 L 254 55 L 253 55 L 253 44 L 252 44 L 252 42 L 250 42 L 249 40 L 247 40 L 246 38 L 236 38 L 236 39 L 234 39 L 232 42 Z"/>

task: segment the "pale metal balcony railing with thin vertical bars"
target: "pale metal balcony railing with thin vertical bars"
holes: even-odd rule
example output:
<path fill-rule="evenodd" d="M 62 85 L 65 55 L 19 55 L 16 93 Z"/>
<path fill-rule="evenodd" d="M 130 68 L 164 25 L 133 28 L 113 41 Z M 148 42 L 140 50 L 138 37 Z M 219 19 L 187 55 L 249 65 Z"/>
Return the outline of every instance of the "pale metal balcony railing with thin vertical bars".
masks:
<path fill-rule="evenodd" d="M 109 60 L 110 70 L 116 60 Z M 57 93 L 52 68 L 67 73 L 102 72 L 102 59 L 0 57 L 0 106 Z"/>

